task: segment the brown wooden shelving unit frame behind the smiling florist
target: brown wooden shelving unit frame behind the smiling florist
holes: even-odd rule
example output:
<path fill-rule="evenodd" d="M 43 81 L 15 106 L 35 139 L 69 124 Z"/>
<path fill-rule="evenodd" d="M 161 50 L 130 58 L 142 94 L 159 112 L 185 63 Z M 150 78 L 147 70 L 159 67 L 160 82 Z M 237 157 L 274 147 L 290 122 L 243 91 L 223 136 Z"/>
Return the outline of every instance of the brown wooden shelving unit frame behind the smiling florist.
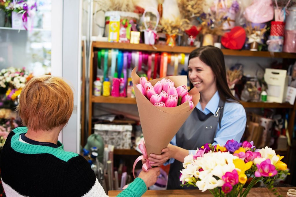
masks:
<path fill-rule="evenodd" d="M 89 122 L 88 122 L 88 135 L 91 134 L 92 122 L 91 117 L 93 115 L 94 103 L 114 103 L 114 104 L 136 104 L 136 99 L 125 97 L 96 97 L 93 96 L 93 82 L 96 76 L 96 66 L 93 65 L 94 53 L 99 49 L 121 49 L 131 51 L 150 51 L 150 52 L 168 52 L 168 53 L 190 53 L 194 47 L 175 46 L 170 47 L 166 45 L 145 45 L 145 44 L 130 44 L 130 43 L 108 43 L 108 42 L 92 42 L 90 51 L 90 79 L 89 79 Z M 295 53 L 270 53 L 268 51 L 247 51 L 247 50 L 229 50 L 222 49 L 225 56 L 250 56 L 250 57 L 263 57 L 263 58 L 286 58 L 296 59 Z M 296 105 L 290 105 L 289 103 L 268 103 L 268 102 L 242 102 L 245 108 L 287 108 L 289 112 L 289 135 L 292 136 L 294 128 L 295 110 Z M 276 153 L 281 155 L 289 155 L 288 150 L 276 150 Z M 140 155 L 134 149 L 115 149 L 115 155 Z"/>

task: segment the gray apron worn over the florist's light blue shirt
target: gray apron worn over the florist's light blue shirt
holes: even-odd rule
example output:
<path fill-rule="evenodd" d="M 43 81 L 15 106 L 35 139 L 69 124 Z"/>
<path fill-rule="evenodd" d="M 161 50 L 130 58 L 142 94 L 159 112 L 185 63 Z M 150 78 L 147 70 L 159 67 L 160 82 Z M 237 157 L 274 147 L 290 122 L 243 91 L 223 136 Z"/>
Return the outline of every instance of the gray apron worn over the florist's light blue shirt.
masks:
<path fill-rule="evenodd" d="M 177 146 L 187 150 L 196 150 L 198 147 L 201 147 L 206 143 L 213 143 L 218 124 L 221 128 L 224 104 L 225 102 L 219 100 L 218 108 L 215 114 L 210 112 L 205 115 L 202 111 L 194 108 L 176 134 Z M 179 177 L 180 170 L 182 169 L 182 163 L 177 160 L 170 165 L 167 189 L 197 189 L 197 187 L 192 185 L 189 187 L 184 186 L 183 188 L 180 186 L 182 182 Z"/>

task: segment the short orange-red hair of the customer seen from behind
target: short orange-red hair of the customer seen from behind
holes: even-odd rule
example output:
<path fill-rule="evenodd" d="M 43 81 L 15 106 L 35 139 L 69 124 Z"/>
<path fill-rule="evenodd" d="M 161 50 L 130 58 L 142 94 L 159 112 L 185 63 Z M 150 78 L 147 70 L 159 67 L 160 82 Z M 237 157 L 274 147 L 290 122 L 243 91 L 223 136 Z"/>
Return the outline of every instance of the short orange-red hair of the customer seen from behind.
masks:
<path fill-rule="evenodd" d="M 22 123 L 34 131 L 65 125 L 73 111 L 73 91 L 59 77 L 34 77 L 22 89 L 17 111 Z"/>

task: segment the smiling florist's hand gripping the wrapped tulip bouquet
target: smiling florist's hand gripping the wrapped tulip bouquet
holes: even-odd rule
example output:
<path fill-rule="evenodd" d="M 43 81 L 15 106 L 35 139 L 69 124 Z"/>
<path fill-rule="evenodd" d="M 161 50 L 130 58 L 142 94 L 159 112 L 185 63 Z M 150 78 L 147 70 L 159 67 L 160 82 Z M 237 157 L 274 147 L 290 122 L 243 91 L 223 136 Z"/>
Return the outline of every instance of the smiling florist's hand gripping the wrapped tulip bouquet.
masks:
<path fill-rule="evenodd" d="M 151 153 L 148 157 L 151 166 L 161 166 L 165 162 L 167 162 L 168 159 L 173 158 L 173 154 L 174 154 L 173 149 L 174 149 L 174 145 L 168 144 L 168 147 L 161 150 L 162 154 L 157 155 L 157 154 Z"/>

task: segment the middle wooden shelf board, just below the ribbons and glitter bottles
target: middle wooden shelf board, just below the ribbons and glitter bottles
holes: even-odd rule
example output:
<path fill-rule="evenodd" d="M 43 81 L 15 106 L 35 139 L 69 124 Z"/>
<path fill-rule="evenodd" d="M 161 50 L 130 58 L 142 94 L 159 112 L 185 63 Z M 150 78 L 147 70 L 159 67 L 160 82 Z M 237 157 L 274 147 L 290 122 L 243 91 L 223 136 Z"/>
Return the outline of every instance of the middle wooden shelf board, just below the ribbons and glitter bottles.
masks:
<path fill-rule="evenodd" d="M 127 97 L 104 97 L 104 96 L 92 96 L 92 102 L 96 103 L 114 103 L 114 104 L 137 104 L 135 98 Z M 245 108 L 293 108 L 288 102 L 276 103 L 276 102 L 244 102 L 241 101 Z"/>

